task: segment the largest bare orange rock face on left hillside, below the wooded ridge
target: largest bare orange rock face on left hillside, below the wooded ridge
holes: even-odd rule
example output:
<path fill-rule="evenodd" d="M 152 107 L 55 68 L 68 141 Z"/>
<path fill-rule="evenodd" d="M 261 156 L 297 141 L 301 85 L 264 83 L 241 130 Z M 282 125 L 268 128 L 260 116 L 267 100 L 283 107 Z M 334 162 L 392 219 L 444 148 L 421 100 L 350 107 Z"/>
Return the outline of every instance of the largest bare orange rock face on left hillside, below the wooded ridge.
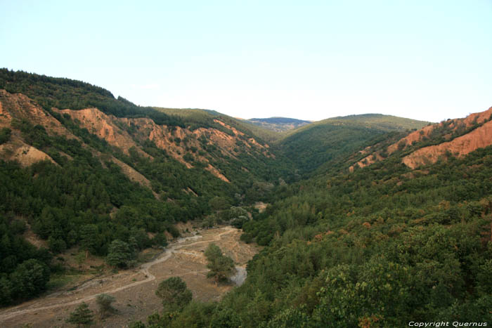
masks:
<path fill-rule="evenodd" d="M 103 138 L 110 145 L 121 148 L 129 154 L 131 148 L 135 149 L 139 155 L 150 157 L 138 145 L 136 140 L 152 140 L 157 147 L 165 150 L 167 155 L 181 162 L 188 169 L 193 167 L 193 161 L 207 164 L 205 169 L 222 181 L 230 182 L 224 173 L 209 163 L 209 159 L 201 154 L 207 153 L 204 147 L 214 145 L 225 157 L 236 157 L 239 152 L 250 152 L 252 155 L 257 153 L 266 157 L 273 157 L 268 150 L 268 145 L 261 145 L 238 131 L 232 126 L 214 119 L 214 122 L 224 126 L 232 133 L 228 134 L 219 129 L 199 128 L 190 130 L 180 126 L 158 125 L 148 118 L 118 118 L 106 115 L 97 108 L 87 108 L 85 110 L 58 110 L 60 114 L 69 114 L 72 119 L 77 119 L 81 126 Z M 131 131 L 131 134 L 129 133 Z M 238 145 L 244 145 L 242 150 L 238 150 Z M 190 150 L 194 151 L 190 151 Z M 191 156 L 193 161 L 185 159 L 185 155 Z"/>

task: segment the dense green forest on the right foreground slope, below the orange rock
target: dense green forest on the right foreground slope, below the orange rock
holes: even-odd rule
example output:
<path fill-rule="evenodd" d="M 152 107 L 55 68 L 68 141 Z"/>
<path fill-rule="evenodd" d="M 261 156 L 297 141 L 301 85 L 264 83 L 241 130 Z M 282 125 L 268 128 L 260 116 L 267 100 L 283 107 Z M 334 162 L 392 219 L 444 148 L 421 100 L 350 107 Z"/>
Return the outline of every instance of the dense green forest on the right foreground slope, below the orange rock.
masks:
<path fill-rule="evenodd" d="M 389 157 L 276 189 L 242 225 L 245 284 L 170 327 L 491 322 L 492 147 L 417 171 Z"/>

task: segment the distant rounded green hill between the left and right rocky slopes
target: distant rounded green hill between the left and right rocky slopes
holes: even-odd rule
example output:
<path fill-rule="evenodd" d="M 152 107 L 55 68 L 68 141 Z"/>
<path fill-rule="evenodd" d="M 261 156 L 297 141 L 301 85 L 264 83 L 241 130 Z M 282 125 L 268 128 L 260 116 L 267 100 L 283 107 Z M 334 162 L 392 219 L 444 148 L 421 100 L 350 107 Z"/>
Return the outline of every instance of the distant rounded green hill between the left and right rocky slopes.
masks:
<path fill-rule="evenodd" d="M 287 133 L 277 143 L 300 173 L 328 169 L 389 132 L 420 129 L 428 122 L 383 114 L 350 115 L 315 122 Z"/>

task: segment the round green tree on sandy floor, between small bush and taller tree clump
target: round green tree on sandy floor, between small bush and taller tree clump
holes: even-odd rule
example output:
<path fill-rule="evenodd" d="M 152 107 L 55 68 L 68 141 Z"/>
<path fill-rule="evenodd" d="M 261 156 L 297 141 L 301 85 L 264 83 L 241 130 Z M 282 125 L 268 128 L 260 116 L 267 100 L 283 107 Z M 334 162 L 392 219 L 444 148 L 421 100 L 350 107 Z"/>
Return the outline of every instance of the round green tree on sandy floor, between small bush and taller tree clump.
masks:
<path fill-rule="evenodd" d="M 193 298 L 180 277 L 170 277 L 161 282 L 155 294 L 162 299 L 162 306 L 168 311 L 182 310 Z"/>

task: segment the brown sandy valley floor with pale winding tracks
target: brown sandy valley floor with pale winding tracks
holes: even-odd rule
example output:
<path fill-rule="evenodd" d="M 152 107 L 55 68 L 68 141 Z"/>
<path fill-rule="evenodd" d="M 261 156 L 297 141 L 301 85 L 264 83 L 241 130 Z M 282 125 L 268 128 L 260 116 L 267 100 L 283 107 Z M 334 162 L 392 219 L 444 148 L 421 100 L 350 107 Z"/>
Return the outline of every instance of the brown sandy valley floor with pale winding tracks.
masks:
<path fill-rule="evenodd" d="M 198 235 L 181 238 L 169 244 L 166 251 L 154 261 L 144 263 L 134 270 L 120 271 L 115 275 L 96 277 L 76 289 L 58 291 L 0 310 L 0 327 L 67 327 L 65 320 L 70 312 L 83 301 L 94 311 L 96 324 L 93 327 L 127 327 L 132 321 L 146 322 L 148 315 L 162 309 L 161 300 L 155 296 L 157 285 L 169 277 L 181 277 L 193 291 L 193 299 L 218 301 L 233 284 L 218 286 L 207 279 L 206 259 L 203 254 L 214 242 L 224 254 L 231 256 L 236 265 L 245 268 L 257 247 L 239 240 L 240 230 L 232 227 L 203 230 Z M 244 274 L 244 270 L 241 270 Z M 238 278 L 240 280 L 240 278 Z M 115 296 L 117 313 L 100 320 L 95 298 L 105 293 Z"/>

